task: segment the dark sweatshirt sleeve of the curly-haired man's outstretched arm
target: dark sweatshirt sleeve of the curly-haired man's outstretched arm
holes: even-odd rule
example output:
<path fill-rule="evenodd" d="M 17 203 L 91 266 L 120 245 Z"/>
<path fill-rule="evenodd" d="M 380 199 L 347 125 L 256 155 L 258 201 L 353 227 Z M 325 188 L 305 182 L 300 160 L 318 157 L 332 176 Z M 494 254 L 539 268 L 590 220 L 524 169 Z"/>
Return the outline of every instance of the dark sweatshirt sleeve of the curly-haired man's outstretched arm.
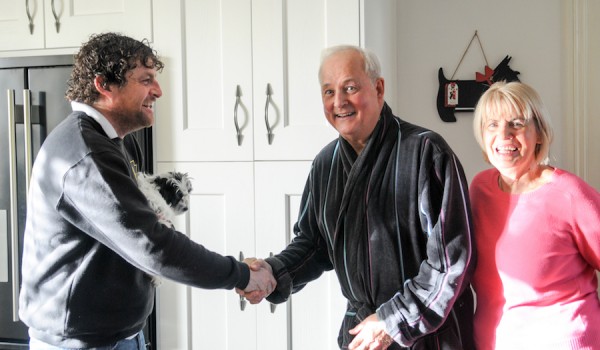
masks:
<path fill-rule="evenodd" d="M 245 288 L 245 264 L 158 222 L 118 149 L 94 152 L 63 179 L 58 210 L 142 271 L 201 288 Z"/>

